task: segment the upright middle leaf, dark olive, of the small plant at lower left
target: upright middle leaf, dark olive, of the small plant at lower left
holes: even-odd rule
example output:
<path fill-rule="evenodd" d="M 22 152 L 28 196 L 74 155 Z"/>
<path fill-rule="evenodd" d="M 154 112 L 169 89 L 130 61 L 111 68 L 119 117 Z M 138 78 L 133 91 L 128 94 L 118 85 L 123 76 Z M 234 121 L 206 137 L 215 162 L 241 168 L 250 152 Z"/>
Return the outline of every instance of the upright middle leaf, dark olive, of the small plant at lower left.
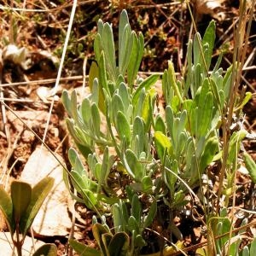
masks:
<path fill-rule="evenodd" d="M 32 187 L 29 183 L 14 181 L 11 183 L 11 197 L 14 206 L 15 222 L 18 224 L 20 218 L 28 207 L 32 196 Z"/>

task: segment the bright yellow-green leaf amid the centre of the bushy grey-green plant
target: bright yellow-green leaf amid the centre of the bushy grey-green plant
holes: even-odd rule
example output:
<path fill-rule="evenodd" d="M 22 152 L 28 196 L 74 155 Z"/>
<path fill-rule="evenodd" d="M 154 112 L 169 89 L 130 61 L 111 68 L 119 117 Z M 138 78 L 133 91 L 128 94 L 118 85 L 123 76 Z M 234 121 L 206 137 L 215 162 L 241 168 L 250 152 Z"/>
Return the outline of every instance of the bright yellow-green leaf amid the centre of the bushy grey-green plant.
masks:
<path fill-rule="evenodd" d="M 171 154 L 172 144 L 168 137 L 166 137 L 161 131 L 154 132 L 154 143 L 156 152 L 163 163 L 165 153 Z"/>

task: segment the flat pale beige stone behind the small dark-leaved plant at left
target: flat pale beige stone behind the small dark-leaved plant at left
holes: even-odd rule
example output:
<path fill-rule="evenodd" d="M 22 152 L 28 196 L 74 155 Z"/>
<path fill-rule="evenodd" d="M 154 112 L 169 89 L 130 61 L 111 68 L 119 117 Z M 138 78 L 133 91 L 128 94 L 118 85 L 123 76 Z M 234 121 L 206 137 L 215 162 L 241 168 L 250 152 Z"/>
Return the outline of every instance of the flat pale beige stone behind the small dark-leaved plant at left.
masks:
<path fill-rule="evenodd" d="M 58 154 L 55 155 L 61 160 Z M 20 179 L 31 183 L 32 186 L 43 177 L 55 178 L 54 188 L 47 196 L 32 224 L 36 235 L 67 236 L 68 230 L 71 228 L 72 223 L 68 209 L 72 200 L 63 182 L 62 172 L 62 166 L 52 154 L 44 148 L 36 148 L 21 173 Z"/>

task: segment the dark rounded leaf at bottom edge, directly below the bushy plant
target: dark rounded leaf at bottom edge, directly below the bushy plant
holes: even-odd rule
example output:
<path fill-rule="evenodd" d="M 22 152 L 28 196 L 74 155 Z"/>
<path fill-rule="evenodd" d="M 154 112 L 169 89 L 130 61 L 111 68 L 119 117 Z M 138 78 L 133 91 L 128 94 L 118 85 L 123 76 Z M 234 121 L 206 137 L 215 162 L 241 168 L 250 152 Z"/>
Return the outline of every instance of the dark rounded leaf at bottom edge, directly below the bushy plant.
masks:
<path fill-rule="evenodd" d="M 129 250 L 129 236 L 125 232 L 119 232 L 111 239 L 108 252 L 110 256 L 126 256 Z"/>

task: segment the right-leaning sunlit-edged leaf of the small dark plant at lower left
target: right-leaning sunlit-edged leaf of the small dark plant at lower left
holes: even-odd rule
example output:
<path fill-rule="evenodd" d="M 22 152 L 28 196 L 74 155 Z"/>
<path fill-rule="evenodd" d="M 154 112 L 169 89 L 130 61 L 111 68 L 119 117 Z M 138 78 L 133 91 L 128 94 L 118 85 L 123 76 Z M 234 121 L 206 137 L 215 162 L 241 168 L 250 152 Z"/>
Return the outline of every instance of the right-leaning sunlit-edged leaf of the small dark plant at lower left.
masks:
<path fill-rule="evenodd" d="M 26 235 L 27 230 L 31 227 L 34 218 L 38 214 L 38 211 L 46 196 L 49 194 L 50 189 L 52 189 L 54 182 L 55 179 L 53 177 L 44 177 L 32 188 L 30 204 L 20 219 L 20 231 L 23 236 Z"/>

